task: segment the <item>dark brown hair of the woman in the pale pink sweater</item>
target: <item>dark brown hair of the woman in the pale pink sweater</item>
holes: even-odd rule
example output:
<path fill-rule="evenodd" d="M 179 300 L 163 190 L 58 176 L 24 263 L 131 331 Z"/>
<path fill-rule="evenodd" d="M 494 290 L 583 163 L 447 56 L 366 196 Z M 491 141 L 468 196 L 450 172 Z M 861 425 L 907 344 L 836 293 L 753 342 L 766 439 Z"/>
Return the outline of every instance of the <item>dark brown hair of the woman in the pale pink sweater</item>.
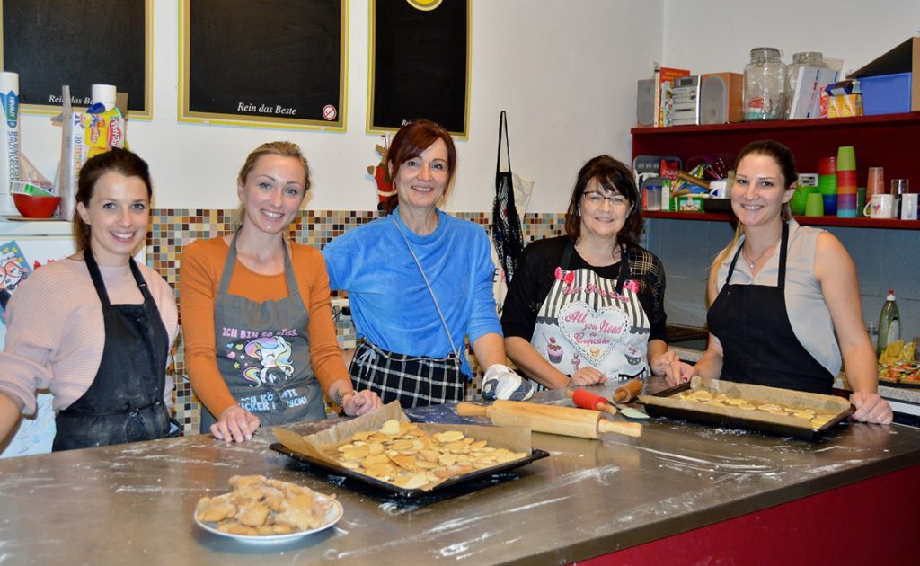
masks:
<path fill-rule="evenodd" d="M 104 154 L 90 157 L 80 167 L 80 177 L 76 181 L 76 202 L 82 202 L 89 208 L 89 201 L 96 191 L 96 183 L 106 173 L 121 173 L 125 177 L 137 177 L 147 187 L 147 201 L 154 196 L 150 182 L 150 167 L 147 162 L 127 149 L 115 147 Z M 80 214 L 74 214 L 74 239 L 76 250 L 89 248 L 92 227 L 83 221 Z"/>

